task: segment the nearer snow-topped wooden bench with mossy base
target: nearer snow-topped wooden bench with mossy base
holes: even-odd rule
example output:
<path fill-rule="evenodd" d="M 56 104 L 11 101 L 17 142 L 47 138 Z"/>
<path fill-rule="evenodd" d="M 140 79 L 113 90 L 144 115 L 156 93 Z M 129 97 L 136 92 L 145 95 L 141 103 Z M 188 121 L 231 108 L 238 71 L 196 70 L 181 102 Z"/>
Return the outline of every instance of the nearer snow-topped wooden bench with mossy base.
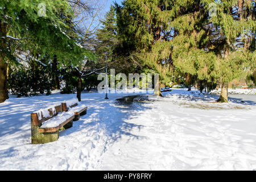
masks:
<path fill-rule="evenodd" d="M 59 139 L 59 130 L 73 126 L 75 115 L 65 113 L 61 105 L 48 107 L 31 114 L 32 144 L 54 142 Z"/>

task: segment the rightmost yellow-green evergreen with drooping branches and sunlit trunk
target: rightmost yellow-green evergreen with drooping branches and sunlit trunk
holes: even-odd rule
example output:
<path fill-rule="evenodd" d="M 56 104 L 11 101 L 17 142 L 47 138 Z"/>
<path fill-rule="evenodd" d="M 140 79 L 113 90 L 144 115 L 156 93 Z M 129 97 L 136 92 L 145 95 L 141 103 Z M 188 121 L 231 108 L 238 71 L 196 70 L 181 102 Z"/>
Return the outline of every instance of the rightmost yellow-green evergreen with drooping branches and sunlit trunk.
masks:
<path fill-rule="evenodd" d="M 174 65 L 209 83 L 221 80 L 218 101 L 228 102 L 228 82 L 255 68 L 255 3 L 186 2 L 176 1 L 171 10 L 177 31 L 171 42 Z M 209 16 L 210 3 L 216 5 L 216 16 Z"/>

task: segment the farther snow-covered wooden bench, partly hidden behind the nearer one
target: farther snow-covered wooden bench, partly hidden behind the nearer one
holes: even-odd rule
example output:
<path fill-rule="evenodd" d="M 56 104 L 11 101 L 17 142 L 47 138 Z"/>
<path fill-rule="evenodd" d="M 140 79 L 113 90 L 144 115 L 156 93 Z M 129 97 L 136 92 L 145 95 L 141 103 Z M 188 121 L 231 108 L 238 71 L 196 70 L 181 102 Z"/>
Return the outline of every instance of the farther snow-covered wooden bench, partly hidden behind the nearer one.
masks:
<path fill-rule="evenodd" d="M 67 102 L 61 105 L 64 111 L 71 111 L 74 113 L 75 118 L 73 119 L 73 121 L 78 121 L 81 115 L 85 115 L 87 113 L 87 109 L 88 109 L 87 106 L 79 105 L 78 102 L 76 103 Z"/>

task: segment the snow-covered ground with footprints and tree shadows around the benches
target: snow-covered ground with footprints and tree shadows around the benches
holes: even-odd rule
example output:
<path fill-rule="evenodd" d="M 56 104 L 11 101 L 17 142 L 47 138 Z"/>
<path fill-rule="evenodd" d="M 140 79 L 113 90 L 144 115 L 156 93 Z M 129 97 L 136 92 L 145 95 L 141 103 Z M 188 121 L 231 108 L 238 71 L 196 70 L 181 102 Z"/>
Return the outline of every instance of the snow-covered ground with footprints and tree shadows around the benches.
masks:
<path fill-rule="evenodd" d="M 0 104 L 0 170 L 256 169 L 255 100 L 216 104 L 217 96 L 172 89 L 150 102 L 116 101 L 133 94 L 82 94 L 87 114 L 38 145 L 30 113 L 76 95 L 11 97 Z"/>

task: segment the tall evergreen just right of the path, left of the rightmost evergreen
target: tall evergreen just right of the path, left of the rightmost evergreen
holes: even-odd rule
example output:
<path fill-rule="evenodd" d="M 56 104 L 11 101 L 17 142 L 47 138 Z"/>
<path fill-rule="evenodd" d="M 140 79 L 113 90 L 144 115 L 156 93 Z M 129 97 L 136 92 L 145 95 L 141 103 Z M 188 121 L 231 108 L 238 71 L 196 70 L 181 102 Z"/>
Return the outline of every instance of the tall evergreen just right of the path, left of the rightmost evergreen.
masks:
<path fill-rule="evenodd" d="M 131 61 L 139 63 L 144 71 L 159 73 L 160 81 L 170 82 L 171 46 L 165 43 L 172 37 L 168 1 L 128 0 L 115 6 L 123 52 L 128 52 Z M 160 96 L 160 90 L 155 94 Z"/>

